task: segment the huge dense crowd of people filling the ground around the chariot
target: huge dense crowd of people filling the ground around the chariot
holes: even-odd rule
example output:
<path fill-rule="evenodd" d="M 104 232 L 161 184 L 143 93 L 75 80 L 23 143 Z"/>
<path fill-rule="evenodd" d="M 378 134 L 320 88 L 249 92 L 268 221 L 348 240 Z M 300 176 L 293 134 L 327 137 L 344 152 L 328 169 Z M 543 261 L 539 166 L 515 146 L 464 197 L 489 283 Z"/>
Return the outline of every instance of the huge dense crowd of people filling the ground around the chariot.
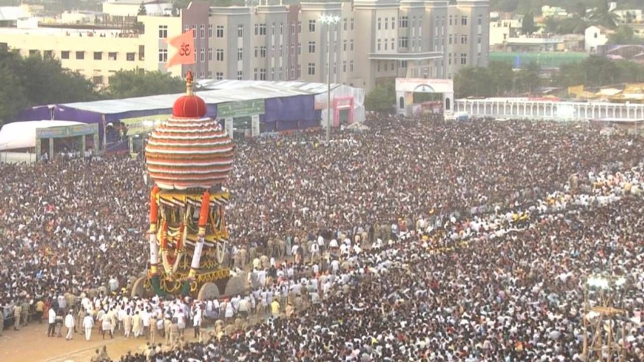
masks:
<path fill-rule="evenodd" d="M 575 361 L 583 284 L 605 273 L 625 278 L 624 344 L 644 361 L 639 138 L 525 120 L 366 124 L 328 145 L 236 142 L 229 254 L 252 270 L 228 300 L 109 293 L 146 269 L 141 160 L 1 164 L 5 320 L 81 306 L 72 327 L 151 338 L 156 324 L 177 347 L 151 339 L 128 362 Z M 191 327 L 200 341 L 185 343 Z"/>

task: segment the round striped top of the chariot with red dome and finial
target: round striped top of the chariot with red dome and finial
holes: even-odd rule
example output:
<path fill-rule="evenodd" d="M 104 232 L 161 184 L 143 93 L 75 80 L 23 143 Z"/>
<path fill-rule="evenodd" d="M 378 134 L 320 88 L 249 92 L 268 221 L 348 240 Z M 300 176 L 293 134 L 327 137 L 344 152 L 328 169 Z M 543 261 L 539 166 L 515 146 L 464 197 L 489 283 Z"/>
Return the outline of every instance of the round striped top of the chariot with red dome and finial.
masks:
<path fill-rule="evenodd" d="M 161 189 L 209 189 L 222 184 L 232 169 L 232 140 L 216 120 L 205 117 L 205 102 L 193 94 L 192 81 L 188 71 L 187 94 L 147 142 L 147 171 Z"/>

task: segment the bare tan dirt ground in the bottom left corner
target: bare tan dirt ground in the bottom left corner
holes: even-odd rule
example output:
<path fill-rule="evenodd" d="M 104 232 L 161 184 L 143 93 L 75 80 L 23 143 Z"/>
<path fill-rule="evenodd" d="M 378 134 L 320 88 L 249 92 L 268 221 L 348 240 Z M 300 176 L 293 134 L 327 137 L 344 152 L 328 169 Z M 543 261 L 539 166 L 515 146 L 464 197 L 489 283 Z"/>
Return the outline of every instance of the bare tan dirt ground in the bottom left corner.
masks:
<path fill-rule="evenodd" d="M 89 362 L 96 348 L 108 347 L 108 356 L 113 360 L 128 351 L 140 352 L 146 345 L 146 338 L 125 338 L 116 332 L 114 339 L 102 339 L 97 327 L 94 327 L 91 340 L 86 341 L 84 334 L 75 333 L 71 341 L 66 341 L 65 328 L 62 338 L 47 337 L 47 325 L 31 323 L 19 331 L 5 329 L 0 337 L 0 361 L 2 362 Z M 80 330 L 80 329 L 77 329 Z M 193 330 L 186 329 L 187 341 L 193 341 Z M 157 343 L 161 341 L 157 334 Z"/>

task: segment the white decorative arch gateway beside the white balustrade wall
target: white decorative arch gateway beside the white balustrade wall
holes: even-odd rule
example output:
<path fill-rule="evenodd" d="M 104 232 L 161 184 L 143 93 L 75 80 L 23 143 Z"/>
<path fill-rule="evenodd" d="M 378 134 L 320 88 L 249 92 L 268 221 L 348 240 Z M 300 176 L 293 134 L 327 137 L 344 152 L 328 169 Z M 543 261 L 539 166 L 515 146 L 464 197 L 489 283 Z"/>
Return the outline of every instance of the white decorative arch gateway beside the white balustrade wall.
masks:
<path fill-rule="evenodd" d="M 444 113 L 453 113 L 454 82 L 451 79 L 396 78 L 397 113 L 410 115 L 413 93 L 442 93 Z"/>

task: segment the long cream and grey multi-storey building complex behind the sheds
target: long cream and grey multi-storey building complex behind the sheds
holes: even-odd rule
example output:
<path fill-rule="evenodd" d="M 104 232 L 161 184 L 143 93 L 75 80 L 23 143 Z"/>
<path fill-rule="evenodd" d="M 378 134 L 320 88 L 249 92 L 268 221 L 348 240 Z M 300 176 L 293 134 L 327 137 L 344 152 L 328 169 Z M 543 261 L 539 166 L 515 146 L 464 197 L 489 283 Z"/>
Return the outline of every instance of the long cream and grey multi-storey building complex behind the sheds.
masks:
<path fill-rule="evenodd" d="M 321 15 L 334 15 L 339 22 L 321 23 Z M 144 32 L 131 37 L 70 37 L 62 31 L 35 36 L 32 30 L 0 29 L 0 46 L 5 43 L 24 55 L 50 54 L 103 84 L 119 69 L 179 76 L 191 69 L 201 79 L 326 82 L 330 75 L 332 82 L 369 90 L 395 77 L 451 78 L 464 66 L 488 64 L 488 0 L 254 7 L 209 7 L 194 1 L 178 15 L 144 15 L 138 22 Z M 166 69 L 173 52 L 167 38 L 187 30 L 194 30 L 195 64 Z M 93 55 L 99 50 L 104 57 Z M 93 58 L 68 58 L 79 52 L 91 52 L 87 56 Z"/>

